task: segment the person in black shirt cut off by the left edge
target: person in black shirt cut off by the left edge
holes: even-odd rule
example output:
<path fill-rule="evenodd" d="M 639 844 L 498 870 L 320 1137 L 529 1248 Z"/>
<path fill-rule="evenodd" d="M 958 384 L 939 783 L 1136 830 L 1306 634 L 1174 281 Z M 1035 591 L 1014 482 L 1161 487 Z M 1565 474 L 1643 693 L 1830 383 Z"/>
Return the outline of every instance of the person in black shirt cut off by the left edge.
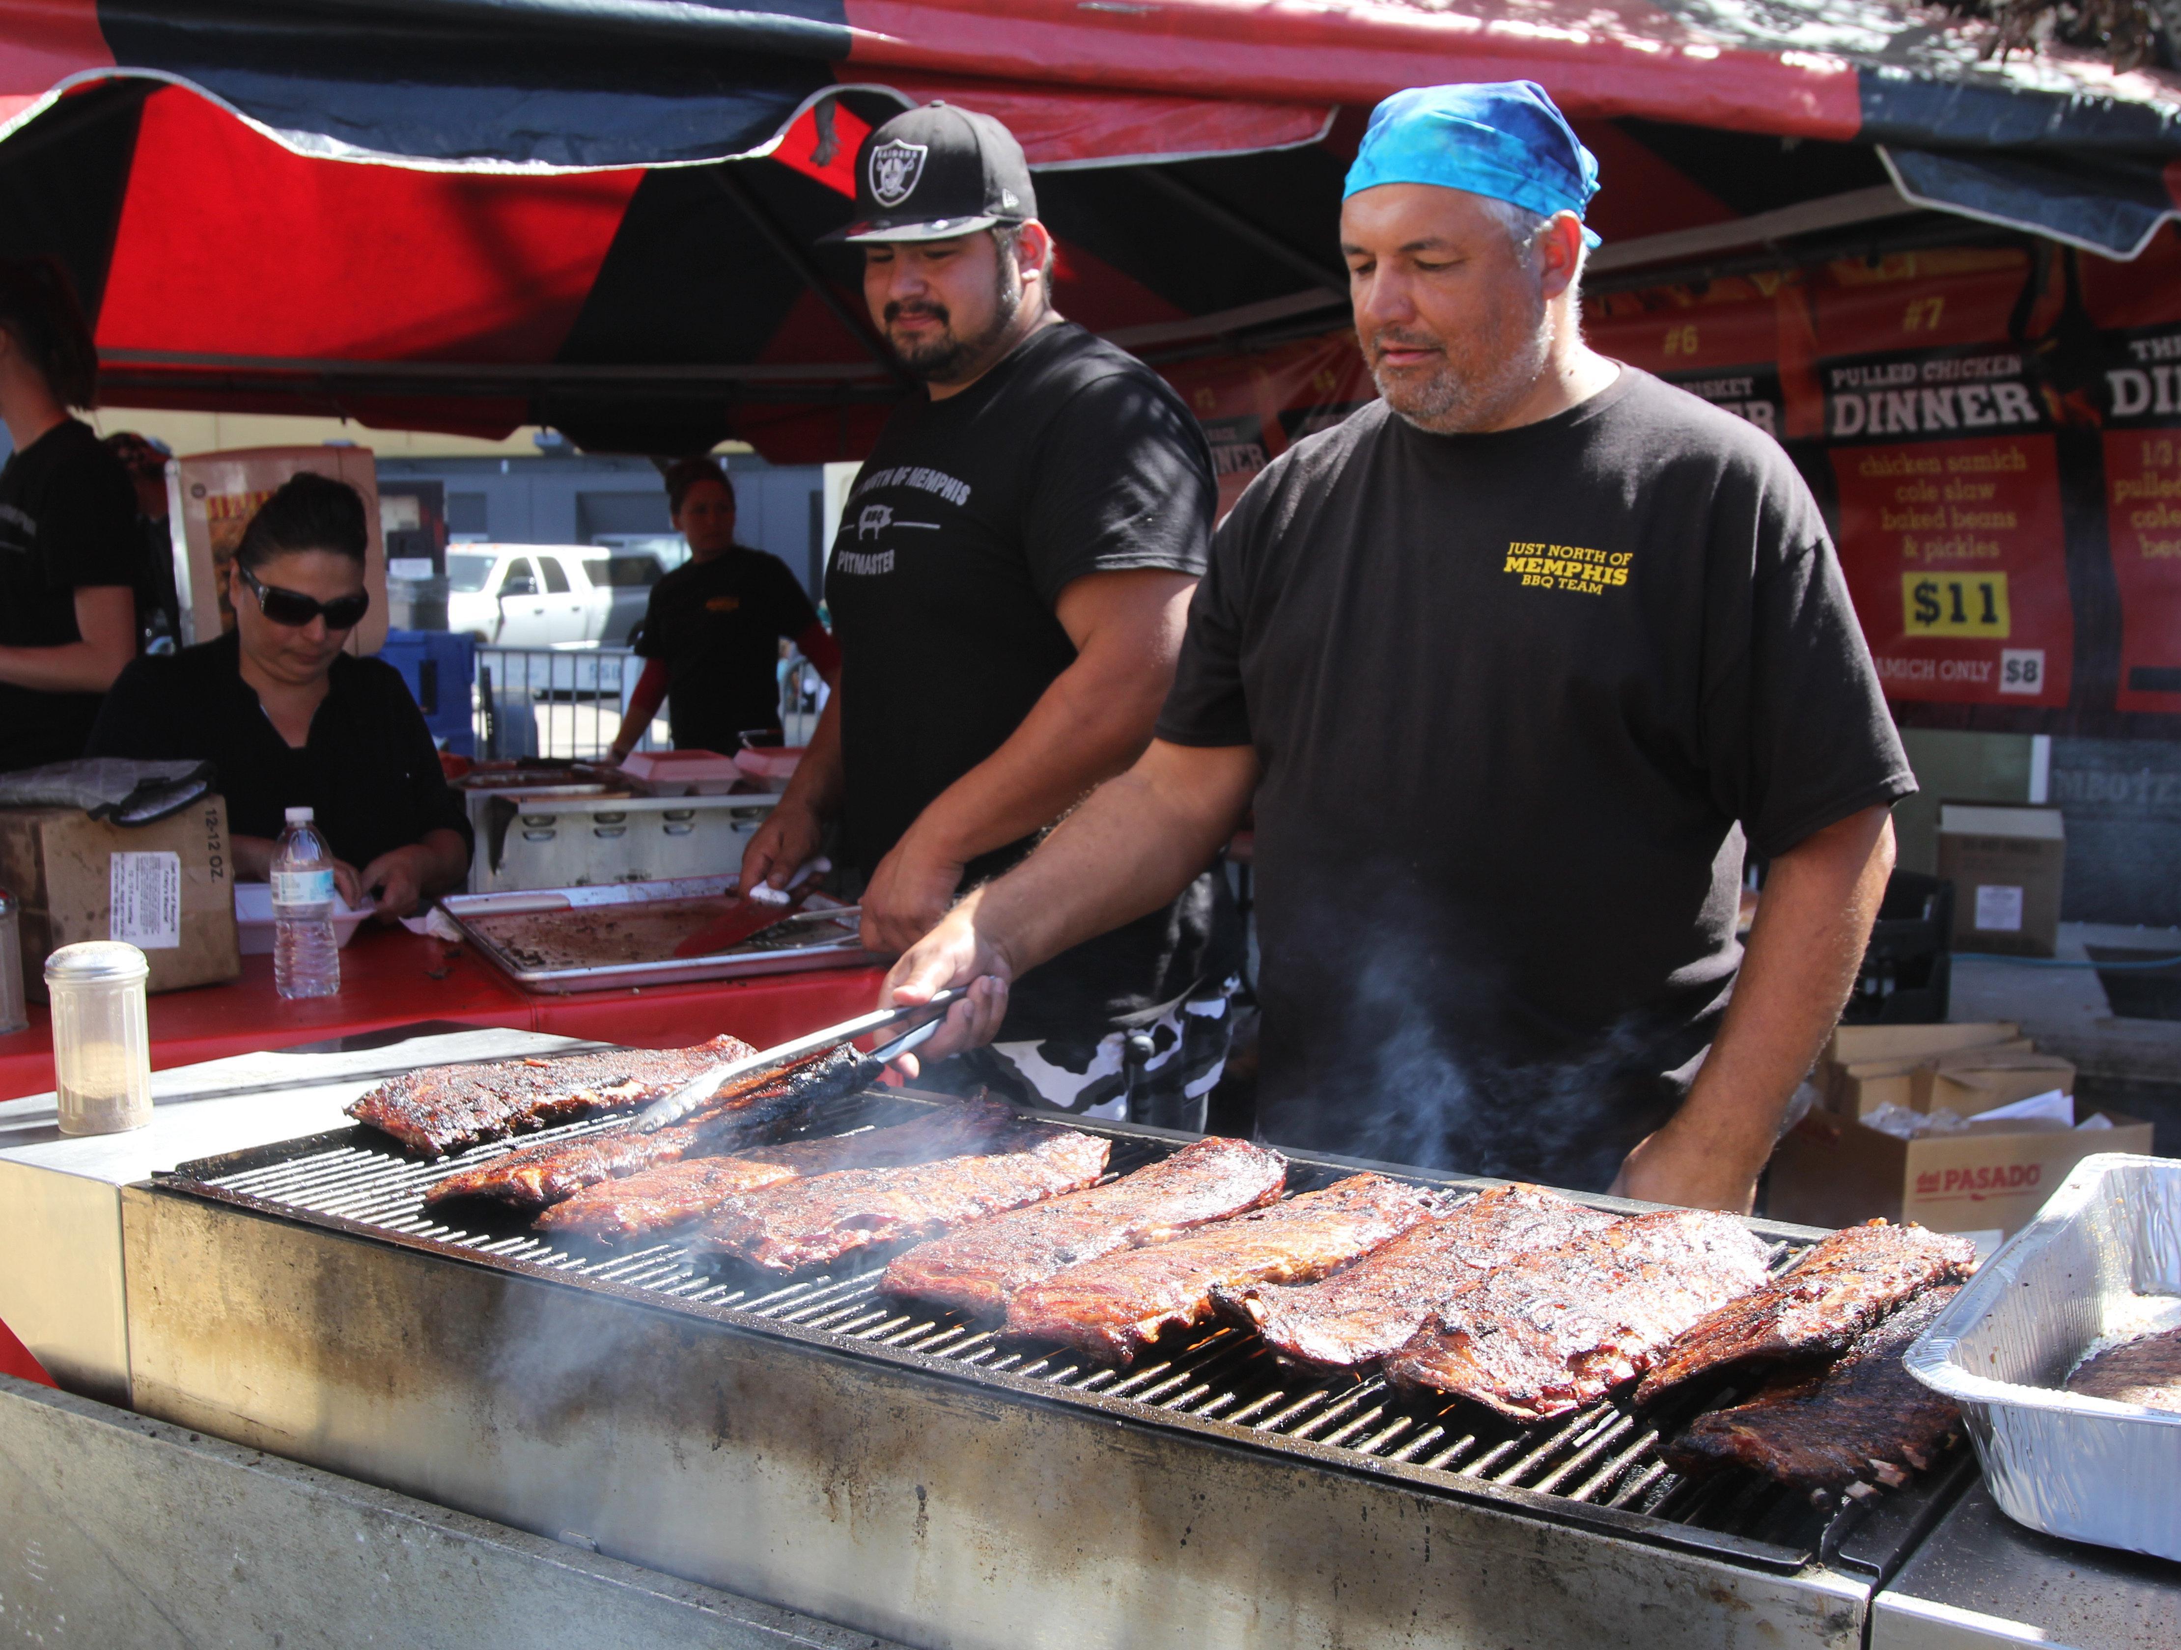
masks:
<path fill-rule="evenodd" d="M 135 488 L 92 427 L 98 351 L 50 257 L 0 262 L 0 772 L 83 754 L 135 658 Z"/>

